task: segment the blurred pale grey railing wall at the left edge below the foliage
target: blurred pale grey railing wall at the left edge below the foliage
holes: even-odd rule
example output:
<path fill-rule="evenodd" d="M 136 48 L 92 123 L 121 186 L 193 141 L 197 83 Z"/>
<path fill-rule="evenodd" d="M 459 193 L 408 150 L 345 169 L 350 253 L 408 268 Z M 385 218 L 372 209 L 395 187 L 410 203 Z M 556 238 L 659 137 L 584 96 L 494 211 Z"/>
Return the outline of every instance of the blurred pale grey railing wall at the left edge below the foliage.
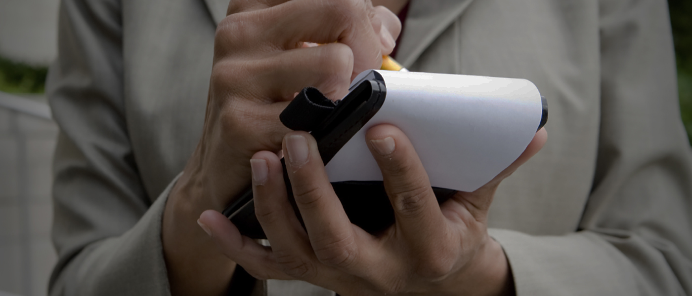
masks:
<path fill-rule="evenodd" d="M 0 280 L 0 296 L 46 295 L 57 259 L 46 211 L 57 126 L 44 101 L 0 92 L 0 169 L 10 172 L 10 178 L 0 179 L 0 213 L 17 217 L 16 223 L 0 223 L 0 242 L 10 246 L 0 257 L 16 259 L 0 264 L 0 276 L 9 277 Z"/>

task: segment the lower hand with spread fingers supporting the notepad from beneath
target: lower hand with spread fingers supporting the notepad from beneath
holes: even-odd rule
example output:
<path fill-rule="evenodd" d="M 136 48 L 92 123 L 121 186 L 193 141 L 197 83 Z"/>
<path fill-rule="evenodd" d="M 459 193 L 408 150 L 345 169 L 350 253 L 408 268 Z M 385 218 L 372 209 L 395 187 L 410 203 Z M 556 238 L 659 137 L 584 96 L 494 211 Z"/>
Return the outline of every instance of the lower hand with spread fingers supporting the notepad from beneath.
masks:
<path fill-rule="evenodd" d="M 396 222 L 374 236 L 349 222 L 331 189 L 317 144 L 306 132 L 284 137 L 286 166 L 305 228 L 286 197 L 280 159 L 251 160 L 255 213 L 271 248 L 243 237 L 214 210 L 200 217 L 219 248 L 260 279 L 300 279 L 340 295 L 502 295 L 513 293 L 507 259 L 487 233 L 496 188 L 545 144 L 539 130 L 509 168 L 473 193 L 438 205 L 408 138 L 394 126 L 367 132 Z"/>

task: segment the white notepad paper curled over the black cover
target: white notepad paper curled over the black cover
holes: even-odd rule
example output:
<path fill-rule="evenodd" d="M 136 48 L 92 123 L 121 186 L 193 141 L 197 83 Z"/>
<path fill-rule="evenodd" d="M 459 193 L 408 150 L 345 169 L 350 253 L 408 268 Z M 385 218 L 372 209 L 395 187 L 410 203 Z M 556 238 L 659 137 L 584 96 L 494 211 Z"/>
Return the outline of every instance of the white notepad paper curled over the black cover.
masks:
<path fill-rule="evenodd" d="M 384 79 L 380 110 L 327 164 L 329 181 L 382 181 L 365 144 L 371 126 L 392 124 L 410 139 L 435 187 L 474 191 L 531 142 L 543 101 L 526 79 L 369 70 Z"/>

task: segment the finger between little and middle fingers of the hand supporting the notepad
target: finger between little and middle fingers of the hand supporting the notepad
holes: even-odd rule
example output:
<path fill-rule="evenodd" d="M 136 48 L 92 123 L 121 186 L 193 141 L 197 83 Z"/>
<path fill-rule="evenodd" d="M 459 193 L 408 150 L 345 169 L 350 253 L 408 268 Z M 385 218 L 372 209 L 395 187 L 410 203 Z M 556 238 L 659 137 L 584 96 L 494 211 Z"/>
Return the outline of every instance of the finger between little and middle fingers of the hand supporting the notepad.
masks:
<path fill-rule="evenodd" d="M 251 164 L 255 215 L 271 243 L 277 264 L 291 277 L 314 280 L 320 266 L 313 263 L 307 234 L 286 195 L 281 161 L 272 152 L 260 151 Z"/>

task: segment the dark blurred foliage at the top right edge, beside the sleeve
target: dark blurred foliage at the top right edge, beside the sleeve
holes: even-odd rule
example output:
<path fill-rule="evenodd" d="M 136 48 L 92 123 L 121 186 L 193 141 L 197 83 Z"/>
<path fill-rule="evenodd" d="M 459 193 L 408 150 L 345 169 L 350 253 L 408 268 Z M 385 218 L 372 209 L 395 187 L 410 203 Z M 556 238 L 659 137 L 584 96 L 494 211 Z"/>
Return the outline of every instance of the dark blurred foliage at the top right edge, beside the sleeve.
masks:
<path fill-rule="evenodd" d="M 677 61 L 680 115 L 692 144 L 692 1 L 668 0 Z"/>

